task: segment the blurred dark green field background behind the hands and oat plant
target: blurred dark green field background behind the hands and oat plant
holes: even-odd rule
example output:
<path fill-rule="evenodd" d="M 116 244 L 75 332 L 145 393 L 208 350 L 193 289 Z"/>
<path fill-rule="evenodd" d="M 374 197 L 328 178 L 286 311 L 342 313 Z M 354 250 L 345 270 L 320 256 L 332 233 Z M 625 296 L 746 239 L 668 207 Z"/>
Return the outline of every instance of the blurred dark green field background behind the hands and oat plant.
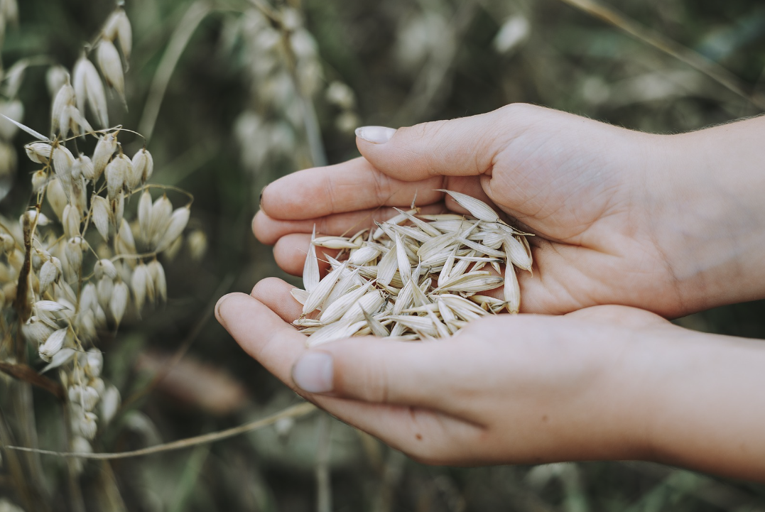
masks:
<path fill-rule="evenodd" d="M 20 23 L 5 35 L 5 67 L 45 57 L 70 68 L 113 6 L 21 0 Z M 627 21 L 621 27 L 559 0 L 271 6 L 287 13 L 288 36 L 245 1 L 126 2 L 135 34 L 129 111 L 113 102 L 112 119 L 145 132 L 152 125 L 145 107 L 161 98 L 148 146 L 153 181 L 194 194 L 191 226 L 207 233 L 207 253 L 197 260 L 184 247 L 164 262 L 167 307 L 102 345 L 105 378 L 129 403 L 99 434 L 97 451 L 213 432 L 298 402 L 216 324 L 212 308 L 224 292 L 249 292 L 266 276 L 295 279 L 249 230 L 259 191 L 321 161 L 322 153 L 330 163 L 358 155 L 356 126 L 408 126 L 513 102 L 660 133 L 761 112 L 709 73 L 624 30 L 637 24 L 650 37 L 676 41 L 682 56 L 721 65 L 751 96 L 765 91 L 765 5 L 752 0 L 612 2 Z M 174 49 L 182 50 L 177 64 L 168 57 Z M 712 64 L 704 66 L 720 77 Z M 158 93 L 157 77 L 168 71 L 167 90 Z M 30 67 L 20 93 L 24 122 L 43 132 L 51 101 L 46 72 L 46 65 Z M 21 158 L 27 138 L 16 142 L 18 174 L 0 202 L 10 217 L 28 204 L 34 171 Z M 678 322 L 765 338 L 761 302 Z M 188 347 L 181 362 L 144 393 L 179 347 Z M 35 399 L 41 446 L 64 449 L 60 409 L 43 393 Z M 322 445 L 329 450 L 331 510 L 765 510 L 760 485 L 659 465 L 431 468 L 319 414 L 213 445 L 89 462 L 81 486 L 88 510 L 317 510 L 326 498 L 317 497 L 315 475 Z M 44 458 L 44 465 L 51 510 L 69 510 L 63 462 Z M 0 496 L 16 499 L 2 471 Z"/>

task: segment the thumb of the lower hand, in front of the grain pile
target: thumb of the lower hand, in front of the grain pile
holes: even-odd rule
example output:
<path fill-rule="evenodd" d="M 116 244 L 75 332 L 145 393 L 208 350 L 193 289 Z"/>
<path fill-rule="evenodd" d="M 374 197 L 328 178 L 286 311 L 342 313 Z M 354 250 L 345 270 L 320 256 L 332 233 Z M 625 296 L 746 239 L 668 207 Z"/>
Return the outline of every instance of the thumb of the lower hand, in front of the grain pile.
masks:
<path fill-rule="evenodd" d="M 449 366 L 441 363 L 451 351 L 432 348 L 374 338 L 334 341 L 305 351 L 292 380 L 308 393 L 440 409 L 449 394 Z"/>

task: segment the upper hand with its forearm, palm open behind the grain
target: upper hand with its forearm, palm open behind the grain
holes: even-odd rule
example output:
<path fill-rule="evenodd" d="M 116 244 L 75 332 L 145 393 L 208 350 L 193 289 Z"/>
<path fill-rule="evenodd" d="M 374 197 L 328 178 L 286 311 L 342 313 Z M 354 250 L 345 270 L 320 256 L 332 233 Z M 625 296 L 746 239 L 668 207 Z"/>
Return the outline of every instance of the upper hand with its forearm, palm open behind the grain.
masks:
<path fill-rule="evenodd" d="M 685 315 L 765 294 L 765 236 L 752 211 L 762 208 L 753 193 L 762 188 L 752 184 L 765 177 L 751 151 L 737 151 L 763 152 L 757 122 L 765 125 L 649 135 L 510 105 L 378 130 L 369 132 L 377 142 L 357 139 L 363 158 L 270 184 L 253 230 L 299 275 L 314 223 L 323 234 L 355 231 L 396 214 L 390 207 L 408 207 L 415 194 L 432 213 L 444 201 L 436 189 L 449 189 L 537 234 L 535 273 L 519 276 L 522 311 L 619 304 Z M 449 198 L 446 206 L 461 211 Z"/>

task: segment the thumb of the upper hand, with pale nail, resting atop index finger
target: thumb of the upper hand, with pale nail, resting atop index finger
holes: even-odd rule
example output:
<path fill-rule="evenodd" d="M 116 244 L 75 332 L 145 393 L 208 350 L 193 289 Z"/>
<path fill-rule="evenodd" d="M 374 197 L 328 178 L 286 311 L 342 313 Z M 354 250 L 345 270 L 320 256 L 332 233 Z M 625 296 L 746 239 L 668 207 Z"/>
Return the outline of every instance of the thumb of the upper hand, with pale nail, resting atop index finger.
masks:
<path fill-rule="evenodd" d="M 356 145 L 370 164 L 392 178 L 476 176 L 490 170 L 501 149 L 499 112 L 399 129 L 362 126 L 356 129 Z"/>

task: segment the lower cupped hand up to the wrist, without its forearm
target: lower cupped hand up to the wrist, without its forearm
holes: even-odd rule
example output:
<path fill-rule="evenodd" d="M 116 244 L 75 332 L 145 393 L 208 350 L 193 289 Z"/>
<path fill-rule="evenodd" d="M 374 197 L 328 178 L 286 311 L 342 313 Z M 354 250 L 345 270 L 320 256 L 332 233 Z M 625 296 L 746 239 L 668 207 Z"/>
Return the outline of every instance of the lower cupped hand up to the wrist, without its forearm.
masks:
<path fill-rule="evenodd" d="M 641 458 L 645 380 L 627 350 L 677 329 L 619 306 L 499 315 L 453 338 L 351 338 L 306 349 L 292 287 L 269 278 L 216 314 L 252 357 L 344 422 L 429 463 Z M 299 361 L 299 362 L 298 362 Z M 296 364 L 297 362 L 297 364 Z"/>

